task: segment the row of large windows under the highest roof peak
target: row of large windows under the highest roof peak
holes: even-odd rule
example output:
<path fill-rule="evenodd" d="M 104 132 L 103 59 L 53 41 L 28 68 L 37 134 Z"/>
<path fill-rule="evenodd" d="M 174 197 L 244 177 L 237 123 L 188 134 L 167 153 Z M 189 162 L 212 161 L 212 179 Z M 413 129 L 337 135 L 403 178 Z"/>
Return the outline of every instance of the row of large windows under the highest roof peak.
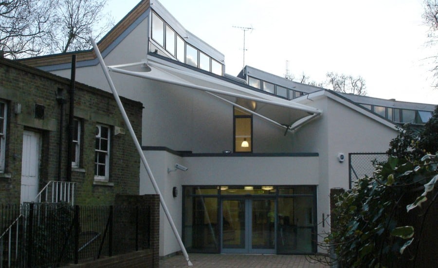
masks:
<path fill-rule="evenodd" d="M 222 64 L 190 45 L 163 19 L 152 12 L 152 39 L 176 60 L 222 76 Z"/>

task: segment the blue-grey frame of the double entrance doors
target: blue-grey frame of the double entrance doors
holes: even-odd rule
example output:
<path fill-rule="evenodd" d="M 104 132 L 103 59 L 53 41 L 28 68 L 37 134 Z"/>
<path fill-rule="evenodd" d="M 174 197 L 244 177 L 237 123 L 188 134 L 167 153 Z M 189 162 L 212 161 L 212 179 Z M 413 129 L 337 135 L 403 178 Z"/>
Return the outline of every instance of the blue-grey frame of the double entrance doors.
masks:
<path fill-rule="evenodd" d="M 245 208 L 245 243 L 244 248 L 223 248 L 223 201 L 226 200 L 243 200 Z M 252 230 L 253 230 L 253 200 L 273 200 L 274 201 L 274 248 L 273 249 L 253 249 Z M 277 248 L 277 201 L 275 196 L 263 195 L 226 195 L 220 198 L 219 219 L 220 219 L 220 252 L 221 253 L 249 253 L 249 254 L 275 254 Z"/>

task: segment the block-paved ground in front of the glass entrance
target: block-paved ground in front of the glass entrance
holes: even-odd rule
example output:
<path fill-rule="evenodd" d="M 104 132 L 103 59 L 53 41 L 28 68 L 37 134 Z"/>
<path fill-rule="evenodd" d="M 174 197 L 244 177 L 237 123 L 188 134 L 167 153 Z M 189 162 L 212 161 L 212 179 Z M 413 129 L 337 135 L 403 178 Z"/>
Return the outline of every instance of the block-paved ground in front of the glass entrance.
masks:
<path fill-rule="evenodd" d="M 329 268 L 316 256 L 272 254 L 189 254 L 193 268 Z M 160 260 L 160 268 L 188 267 L 183 255 Z"/>

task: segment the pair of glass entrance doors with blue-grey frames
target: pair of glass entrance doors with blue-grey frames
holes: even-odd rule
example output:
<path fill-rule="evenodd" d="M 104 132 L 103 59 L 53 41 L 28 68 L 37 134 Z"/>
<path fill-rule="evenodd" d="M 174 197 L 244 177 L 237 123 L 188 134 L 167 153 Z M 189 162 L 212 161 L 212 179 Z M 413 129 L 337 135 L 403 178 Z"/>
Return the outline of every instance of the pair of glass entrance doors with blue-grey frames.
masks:
<path fill-rule="evenodd" d="M 222 252 L 275 253 L 275 200 L 222 200 Z"/>

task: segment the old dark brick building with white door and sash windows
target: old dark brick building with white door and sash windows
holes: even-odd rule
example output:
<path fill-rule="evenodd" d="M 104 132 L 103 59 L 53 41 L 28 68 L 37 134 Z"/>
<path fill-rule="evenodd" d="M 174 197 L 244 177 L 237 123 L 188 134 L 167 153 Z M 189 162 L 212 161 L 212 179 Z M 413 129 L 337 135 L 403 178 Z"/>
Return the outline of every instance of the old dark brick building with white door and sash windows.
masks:
<path fill-rule="evenodd" d="M 69 88 L 70 79 L 0 58 L 1 203 L 36 201 L 49 181 L 68 180 Z M 122 102 L 140 137 L 142 103 Z M 74 186 L 64 194 L 79 205 L 139 194 L 140 158 L 113 96 L 76 83 L 73 114 Z"/>

